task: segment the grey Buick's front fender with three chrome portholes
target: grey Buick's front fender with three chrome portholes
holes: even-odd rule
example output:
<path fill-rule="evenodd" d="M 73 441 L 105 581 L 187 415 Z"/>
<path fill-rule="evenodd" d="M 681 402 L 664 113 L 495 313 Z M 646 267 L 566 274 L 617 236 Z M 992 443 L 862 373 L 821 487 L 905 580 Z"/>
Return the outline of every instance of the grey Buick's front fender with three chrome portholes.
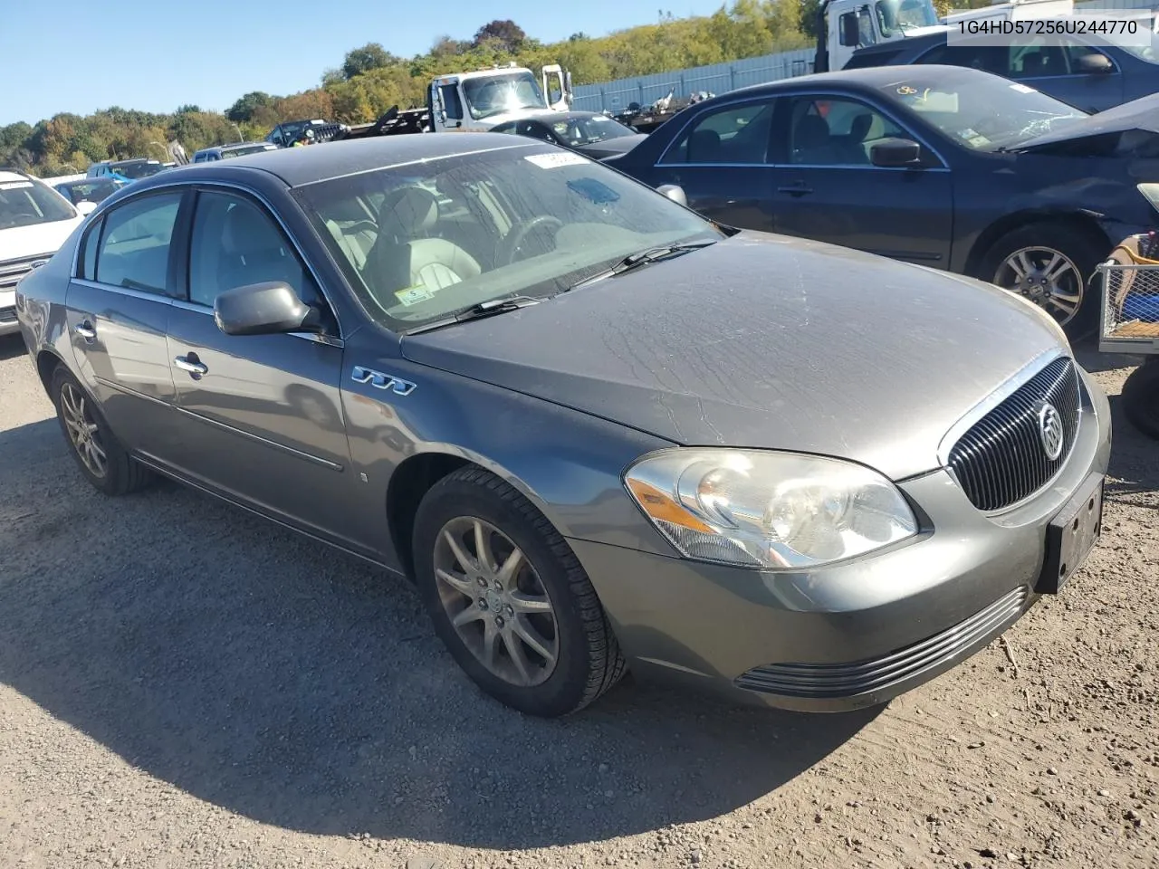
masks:
<path fill-rule="evenodd" d="M 349 359 L 349 356 L 348 356 Z M 394 470 L 411 457 L 451 455 L 487 468 L 518 489 L 564 538 L 672 555 L 624 487 L 624 469 L 668 440 L 542 399 L 410 363 L 374 363 L 413 384 L 406 395 L 342 385 L 357 502 L 350 523 L 391 567 L 384 505 Z M 367 367 L 371 364 L 367 363 Z"/>

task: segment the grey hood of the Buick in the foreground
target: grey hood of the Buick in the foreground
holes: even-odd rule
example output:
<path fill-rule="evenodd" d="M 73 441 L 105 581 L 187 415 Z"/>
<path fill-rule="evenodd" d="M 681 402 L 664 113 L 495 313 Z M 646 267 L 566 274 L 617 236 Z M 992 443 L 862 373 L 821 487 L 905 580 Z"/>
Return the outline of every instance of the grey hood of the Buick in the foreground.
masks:
<path fill-rule="evenodd" d="M 939 467 L 950 426 L 1056 333 L 1006 291 L 739 233 L 574 293 L 406 336 L 418 364 L 681 445 Z"/>

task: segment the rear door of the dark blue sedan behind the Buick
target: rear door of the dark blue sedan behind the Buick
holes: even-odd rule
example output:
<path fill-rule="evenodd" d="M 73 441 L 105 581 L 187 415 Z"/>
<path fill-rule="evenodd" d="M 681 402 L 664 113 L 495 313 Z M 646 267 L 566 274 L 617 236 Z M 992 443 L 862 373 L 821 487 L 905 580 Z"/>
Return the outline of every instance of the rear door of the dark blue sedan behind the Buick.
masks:
<path fill-rule="evenodd" d="M 763 96 L 701 111 L 653 168 L 653 185 L 679 184 L 688 206 L 710 220 L 772 232 L 768 141 L 775 104 L 775 97 Z"/>

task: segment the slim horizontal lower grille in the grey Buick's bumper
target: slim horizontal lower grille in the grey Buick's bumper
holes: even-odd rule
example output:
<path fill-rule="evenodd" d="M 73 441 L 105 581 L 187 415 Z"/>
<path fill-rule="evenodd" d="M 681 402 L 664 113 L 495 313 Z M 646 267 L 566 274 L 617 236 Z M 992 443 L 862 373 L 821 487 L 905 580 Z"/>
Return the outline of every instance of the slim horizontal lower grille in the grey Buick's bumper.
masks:
<path fill-rule="evenodd" d="M 852 698 L 884 691 L 958 657 L 1005 630 L 1022 613 L 1026 586 L 940 634 L 889 655 L 851 664 L 766 664 L 736 679 L 737 687 L 790 698 Z"/>

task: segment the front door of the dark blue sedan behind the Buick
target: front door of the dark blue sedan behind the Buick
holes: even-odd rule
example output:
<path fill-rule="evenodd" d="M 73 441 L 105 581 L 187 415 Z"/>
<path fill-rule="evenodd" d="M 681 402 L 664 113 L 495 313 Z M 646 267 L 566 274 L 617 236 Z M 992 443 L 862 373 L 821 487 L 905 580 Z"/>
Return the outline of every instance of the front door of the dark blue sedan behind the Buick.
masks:
<path fill-rule="evenodd" d="M 921 168 L 869 162 L 875 143 L 907 130 L 860 100 L 814 94 L 786 100 L 774 129 L 777 232 L 948 268 L 948 168 L 926 148 Z"/>

